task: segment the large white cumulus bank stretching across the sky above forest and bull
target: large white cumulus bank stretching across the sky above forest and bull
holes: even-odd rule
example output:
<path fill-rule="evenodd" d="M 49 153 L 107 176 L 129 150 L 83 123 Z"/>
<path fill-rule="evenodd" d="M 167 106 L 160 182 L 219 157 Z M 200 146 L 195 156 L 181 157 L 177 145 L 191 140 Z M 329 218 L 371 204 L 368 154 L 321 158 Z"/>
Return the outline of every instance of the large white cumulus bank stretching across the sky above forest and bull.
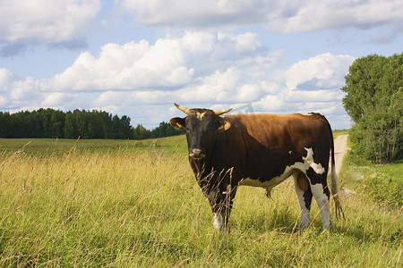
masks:
<path fill-rule="evenodd" d="M 193 31 L 153 44 L 107 44 L 99 54 L 80 54 L 48 80 L 19 78 L 0 69 L 0 109 L 100 109 L 137 120 L 149 116 L 143 110 L 150 109 L 157 121 L 177 113 L 169 109 L 173 102 L 192 107 L 249 104 L 259 113 L 345 113 L 339 88 L 352 56 L 318 54 L 279 69 L 283 57 L 281 50 L 263 46 L 249 32 Z"/>

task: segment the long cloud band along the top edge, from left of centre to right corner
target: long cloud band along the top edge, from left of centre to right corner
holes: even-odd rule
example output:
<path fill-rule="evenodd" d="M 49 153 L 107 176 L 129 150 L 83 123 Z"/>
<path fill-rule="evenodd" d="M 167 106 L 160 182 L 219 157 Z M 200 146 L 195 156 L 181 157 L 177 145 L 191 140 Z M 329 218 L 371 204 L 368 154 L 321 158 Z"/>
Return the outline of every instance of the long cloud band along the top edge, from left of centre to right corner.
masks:
<path fill-rule="evenodd" d="M 368 29 L 379 24 L 401 25 L 399 0 L 122 0 L 119 6 L 150 26 L 236 27 L 265 25 L 283 33 L 318 29 Z"/>

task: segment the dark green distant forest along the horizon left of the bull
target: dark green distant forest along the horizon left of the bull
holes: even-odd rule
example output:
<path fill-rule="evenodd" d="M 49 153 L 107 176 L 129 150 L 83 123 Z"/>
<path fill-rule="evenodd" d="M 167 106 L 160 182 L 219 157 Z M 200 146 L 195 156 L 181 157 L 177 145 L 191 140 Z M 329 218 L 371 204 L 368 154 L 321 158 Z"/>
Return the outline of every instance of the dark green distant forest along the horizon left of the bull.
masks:
<path fill-rule="evenodd" d="M 184 133 L 162 121 L 159 127 L 135 128 L 130 117 L 121 118 L 107 112 L 74 110 L 64 113 L 53 109 L 32 112 L 0 112 L 0 138 L 116 138 L 144 139 Z"/>

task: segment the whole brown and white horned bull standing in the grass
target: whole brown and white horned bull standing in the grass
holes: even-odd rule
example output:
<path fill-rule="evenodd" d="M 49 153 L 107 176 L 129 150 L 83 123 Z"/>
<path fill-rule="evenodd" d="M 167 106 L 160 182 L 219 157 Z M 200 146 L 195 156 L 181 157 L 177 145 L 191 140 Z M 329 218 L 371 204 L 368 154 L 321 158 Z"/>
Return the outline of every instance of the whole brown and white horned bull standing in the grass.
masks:
<path fill-rule="evenodd" d="M 176 104 L 175 104 L 176 105 Z M 186 130 L 189 163 L 209 199 L 213 226 L 227 230 L 240 185 L 266 188 L 267 195 L 289 176 L 294 177 L 301 206 L 301 229 L 310 224 L 312 198 L 322 213 L 324 230 L 330 229 L 330 190 L 327 184 L 331 150 L 331 192 L 336 215 L 342 214 L 335 171 L 330 123 L 319 113 L 309 115 L 236 114 L 227 110 L 176 107 L 185 118 L 171 125 Z"/>

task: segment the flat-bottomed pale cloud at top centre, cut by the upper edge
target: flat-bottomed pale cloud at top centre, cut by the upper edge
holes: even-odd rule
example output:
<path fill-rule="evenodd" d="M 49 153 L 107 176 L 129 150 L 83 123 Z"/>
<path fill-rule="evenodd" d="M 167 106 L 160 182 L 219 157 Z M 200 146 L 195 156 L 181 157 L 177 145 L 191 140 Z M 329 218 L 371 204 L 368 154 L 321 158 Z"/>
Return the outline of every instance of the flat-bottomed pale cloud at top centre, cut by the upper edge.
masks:
<path fill-rule="evenodd" d="M 123 0 L 119 3 L 122 8 L 139 16 L 141 23 L 179 27 L 211 27 L 233 24 L 234 21 L 238 21 L 238 25 L 258 22 L 266 16 L 267 7 L 272 5 L 244 0 Z M 260 8 L 256 8 L 258 6 Z"/>

